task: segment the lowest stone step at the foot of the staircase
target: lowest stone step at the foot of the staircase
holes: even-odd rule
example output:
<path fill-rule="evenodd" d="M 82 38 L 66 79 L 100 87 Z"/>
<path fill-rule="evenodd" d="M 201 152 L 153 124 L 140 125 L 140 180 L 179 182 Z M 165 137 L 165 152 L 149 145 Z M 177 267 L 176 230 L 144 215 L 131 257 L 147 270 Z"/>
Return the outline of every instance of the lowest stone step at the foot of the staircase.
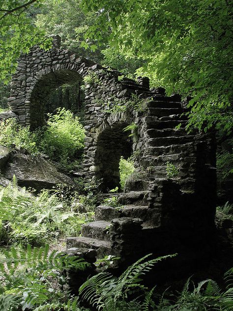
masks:
<path fill-rule="evenodd" d="M 111 254 L 111 243 L 87 237 L 69 237 L 66 239 L 67 249 L 85 248 L 95 249 L 98 258 Z"/>

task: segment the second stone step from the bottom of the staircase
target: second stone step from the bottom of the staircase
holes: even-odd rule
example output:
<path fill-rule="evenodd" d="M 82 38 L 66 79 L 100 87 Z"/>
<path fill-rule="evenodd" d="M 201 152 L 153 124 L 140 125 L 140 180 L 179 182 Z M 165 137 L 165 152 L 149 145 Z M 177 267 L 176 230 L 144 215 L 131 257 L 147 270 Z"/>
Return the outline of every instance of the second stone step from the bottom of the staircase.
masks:
<path fill-rule="evenodd" d="M 110 222 L 104 220 L 85 223 L 82 226 L 82 236 L 102 241 L 110 241 L 108 230 L 110 225 Z"/>

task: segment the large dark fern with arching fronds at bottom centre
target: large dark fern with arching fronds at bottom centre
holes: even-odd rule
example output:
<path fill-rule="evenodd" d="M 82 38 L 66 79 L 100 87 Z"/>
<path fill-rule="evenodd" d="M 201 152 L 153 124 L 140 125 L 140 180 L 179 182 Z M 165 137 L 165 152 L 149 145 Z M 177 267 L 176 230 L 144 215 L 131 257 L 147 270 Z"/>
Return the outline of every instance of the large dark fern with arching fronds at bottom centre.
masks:
<path fill-rule="evenodd" d="M 149 255 L 139 259 L 136 263 L 128 267 L 117 279 L 108 272 L 102 272 L 87 280 L 79 289 L 80 296 L 89 302 L 97 310 L 103 311 L 123 311 L 123 310 L 150 310 L 154 307 L 151 294 L 147 288 L 140 283 L 142 276 L 153 268 L 158 261 L 170 258 L 175 255 L 168 255 L 151 259 L 145 262 Z M 140 303 L 140 298 L 128 301 L 134 294 L 144 294 L 145 300 Z"/>

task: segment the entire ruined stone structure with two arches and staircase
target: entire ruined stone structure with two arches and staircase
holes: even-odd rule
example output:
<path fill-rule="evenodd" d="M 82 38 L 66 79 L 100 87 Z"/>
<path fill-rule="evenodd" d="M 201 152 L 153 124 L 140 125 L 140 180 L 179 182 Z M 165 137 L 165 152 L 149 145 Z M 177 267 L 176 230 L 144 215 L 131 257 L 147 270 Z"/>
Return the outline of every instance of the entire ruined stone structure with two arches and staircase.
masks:
<path fill-rule="evenodd" d="M 9 105 L 20 124 L 45 124 L 46 96 L 64 83 L 86 79 L 84 172 L 101 180 L 107 192 L 119 185 L 120 156 L 133 155 L 137 173 L 127 191 L 115 194 L 121 208 L 96 207 L 96 221 L 81 237 L 67 240 L 68 251 L 103 257 L 115 254 L 130 262 L 149 252 L 189 253 L 202 260 L 214 232 L 215 142 L 209 134 L 187 133 L 180 96 L 137 82 L 54 47 L 31 49 L 19 60 Z M 181 124 L 177 129 L 176 125 Z M 132 136 L 123 129 L 131 125 Z M 167 175 L 170 165 L 175 172 Z M 203 257 L 202 257 L 203 256 Z"/>

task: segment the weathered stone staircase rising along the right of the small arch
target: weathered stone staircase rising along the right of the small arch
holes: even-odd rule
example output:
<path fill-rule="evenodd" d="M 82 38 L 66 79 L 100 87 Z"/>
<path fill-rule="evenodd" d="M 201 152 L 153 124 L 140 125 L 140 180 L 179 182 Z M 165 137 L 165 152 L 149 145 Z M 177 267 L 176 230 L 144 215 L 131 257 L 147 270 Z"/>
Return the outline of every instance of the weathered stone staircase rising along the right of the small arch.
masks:
<path fill-rule="evenodd" d="M 82 236 L 67 238 L 68 252 L 94 249 L 96 258 L 112 254 L 127 264 L 149 252 L 166 249 L 170 237 L 164 232 L 169 227 L 173 230 L 176 225 L 182 231 L 184 220 L 174 215 L 186 207 L 187 196 L 195 191 L 197 145 L 204 136 L 201 139 L 197 133 L 186 132 L 187 120 L 179 98 L 155 94 L 147 107 L 142 117 L 147 145 L 142 148 L 139 163 L 146 179 L 133 181 L 128 192 L 113 194 L 119 206 L 96 207 L 95 221 L 83 225 Z M 175 128 L 178 124 L 180 127 Z M 178 177 L 167 179 L 167 162 L 178 168 Z M 174 225 L 174 221 L 178 223 Z"/>

